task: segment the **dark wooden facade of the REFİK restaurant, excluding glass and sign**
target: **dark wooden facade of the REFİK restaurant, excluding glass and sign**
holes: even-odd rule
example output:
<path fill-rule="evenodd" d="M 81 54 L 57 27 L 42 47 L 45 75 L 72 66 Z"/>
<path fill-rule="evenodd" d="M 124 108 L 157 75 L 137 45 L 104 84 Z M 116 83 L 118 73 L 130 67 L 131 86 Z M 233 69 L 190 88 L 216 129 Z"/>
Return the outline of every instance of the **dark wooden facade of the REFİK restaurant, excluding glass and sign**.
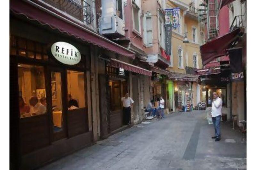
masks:
<path fill-rule="evenodd" d="M 27 18 L 10 16 L 10 161 L 11 169 L 34 169 L 92 144 L 89 131 L 87 76 L 90 75 L 90 48 L 75 37 L 39 25 Z M 81 61 L 76 65 L 58 62 L 49 53 L 50 44 L 68 42 L 79 49 Z M 32 65 L 43 68 L 47 112 L 42 115 L 20 118 L 19 66 Z M 68 110 L 67 70 L 84 75 L 84 101 L 81 108 Z M 52 117 L 52 72 L 60 73 L 61 130 L 55 132 Z M 88 74 L 89 73 L 89 74 Z M 37 82 L 36 82 L 37 83 Z"/>

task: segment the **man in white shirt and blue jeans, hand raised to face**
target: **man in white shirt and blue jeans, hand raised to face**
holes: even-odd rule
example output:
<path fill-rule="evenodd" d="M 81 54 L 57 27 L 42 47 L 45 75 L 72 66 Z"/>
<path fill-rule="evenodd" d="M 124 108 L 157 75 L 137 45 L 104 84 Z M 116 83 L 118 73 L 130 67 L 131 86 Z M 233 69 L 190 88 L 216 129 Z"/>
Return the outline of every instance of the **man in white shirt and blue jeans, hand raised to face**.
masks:
<path fill-rule="evenodd" d="M 221 108 L 222 100 L 218 97 L 216 92 L 212 93 L 212 123 L 215 129 L 215 136 L 212 137 L 215 141 L 220 141 L 220 119 L 221 119 Z"/>

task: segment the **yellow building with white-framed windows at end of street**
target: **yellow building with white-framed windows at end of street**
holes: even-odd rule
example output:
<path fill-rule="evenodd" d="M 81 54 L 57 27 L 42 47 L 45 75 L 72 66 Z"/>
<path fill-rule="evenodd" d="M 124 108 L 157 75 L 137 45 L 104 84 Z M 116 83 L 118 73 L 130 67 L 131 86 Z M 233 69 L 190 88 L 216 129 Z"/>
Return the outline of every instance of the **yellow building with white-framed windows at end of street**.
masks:
<path fill-rule="evenodd" d="M 166 8 L 180 8 L 180 27 L 172 29 L 172 55 L 169 71 L 174 72 L 174 110 L 201 100 L 202 87 L 198 84 L 195 69 L 202 68 L 199 47 L 204 43 L 204 25 L 198 22 L 199 0 L 167 0 Z M 184 43 L 185 36 L 189 42 Z"/>

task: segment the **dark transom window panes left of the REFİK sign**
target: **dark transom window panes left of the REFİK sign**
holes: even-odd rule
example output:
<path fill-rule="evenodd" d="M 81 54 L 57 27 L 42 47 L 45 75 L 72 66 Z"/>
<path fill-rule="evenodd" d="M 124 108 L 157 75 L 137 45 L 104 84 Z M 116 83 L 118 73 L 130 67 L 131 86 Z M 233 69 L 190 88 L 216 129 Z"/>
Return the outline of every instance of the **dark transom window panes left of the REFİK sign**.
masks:
<path fill-rule="evenodd" d="M 10 36 L 10 55 L 48 60 L 46 45 L 25 38 Z"/>

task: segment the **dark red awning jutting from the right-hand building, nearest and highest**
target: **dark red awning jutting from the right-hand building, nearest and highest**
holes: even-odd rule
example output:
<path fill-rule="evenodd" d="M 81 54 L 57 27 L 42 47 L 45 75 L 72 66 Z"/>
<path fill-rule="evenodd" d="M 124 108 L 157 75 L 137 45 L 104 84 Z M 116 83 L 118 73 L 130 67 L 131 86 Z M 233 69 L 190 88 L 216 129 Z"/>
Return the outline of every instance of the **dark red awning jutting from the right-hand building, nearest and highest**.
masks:
<path fill-rule="evenodd" d="M 230 33 L 200 46 L 203 65 L 211 62 L 215 58 L 227 55 L 226 49 L 229 48 L 234 40 L 236 40 L 239 32 L 240 28 L 237 28 Z"/>

